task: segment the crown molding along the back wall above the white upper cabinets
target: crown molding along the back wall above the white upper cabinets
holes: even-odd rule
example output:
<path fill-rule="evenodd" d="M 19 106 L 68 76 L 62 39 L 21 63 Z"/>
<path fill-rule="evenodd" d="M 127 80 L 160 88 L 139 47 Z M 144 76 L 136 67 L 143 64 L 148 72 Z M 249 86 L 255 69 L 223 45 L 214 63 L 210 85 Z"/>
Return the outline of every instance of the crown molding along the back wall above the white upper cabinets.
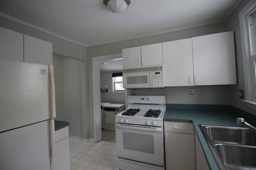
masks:
<path fill-rule="evenodd" d="M 97 45 L 102 45 L 102 44 L 108 44 L 108 43 L 115 43 L 115 42 L 118 42 L 118 41 L 131 40 L 131 39 L 135 39 L 135 38 L 155 36 L 155 35 L 159 35 L 161 33 L 168 33 L 168 32 L 173 32 L 173 31 L 185 30 L 185 29 L 189 29 L 189 28 L 195 28 L 195 27 L 200 27 L 200 26 L 203 26 L 203 25 L 220 23 L 220 22 L 224 22 L 224 21 L 225 21 L 225 19 L 210 21 L 210 22 L 204 22 L 204 23 L 199 23 L 199 24 L 195 24 L 195 25 L 189 25 L 189 26 L 186 26 L 186 27 L 179 27 L 179 28 L 174 28 L 174 29 L 165 30 L 165 31 L 158 31 L 158 32 L 154 32 L 154 33 L 148 33 L 148 34 L 141 35 L 141 36 L 134 36 L 134 37 L 122 38 L 122 39 L 113 40 L 113 41 L 105 41 L 105 42 L 102 42 L 102 43 L 89 44 L 89 45 L 87 45 L 87 47 L 97 46 Z"/>

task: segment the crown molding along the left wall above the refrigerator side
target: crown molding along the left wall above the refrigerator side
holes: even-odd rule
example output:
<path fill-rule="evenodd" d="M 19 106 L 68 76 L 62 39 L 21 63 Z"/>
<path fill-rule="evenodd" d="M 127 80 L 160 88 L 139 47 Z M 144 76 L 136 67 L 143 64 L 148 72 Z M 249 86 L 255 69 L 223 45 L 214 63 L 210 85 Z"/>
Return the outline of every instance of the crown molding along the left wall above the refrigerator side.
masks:
<path fill-rule="evenodd" d="M 70 41 L 71 43 L 75 43 L 75 44 L 78 44 L 78 45 L 87 47 L 87 45 L 85 45 L 85 44 L 83 44 L 83 43 L 79 43 L 79 42 L 74 41 L 74 40 L 71 40 L 71 39 L 69 39 L 69 38 L 60 36 L 60 35 L 58 35 L 57 33 L 53 33 L 53 32 L 51 32 L 51 31 L 47 31 L 47 30 L 45 30 L 45 29 L 43 29 L 43 28 L 37 27 L 36 25 L 33 25 L 33 24 L 31 24 L 31 23 L 28 23 L 28 22 L 22 21 L 22 20 L 20 20 L 20 19 L 14 18 L 13 16 L 7 15 L 7 14 L 5 14 L 5 13 L 0 12 L 0 15 L 1 15 L 1 16 L 4 16 L 5 18 L 8 18 L 8 19 L 10 19 L 10 20 L 13 20 L 13 21 L 22 23 L 22 24 L 24 24 L 24 25 L 27 25 L 27 26 L 29 26 L 29 27 L 35 28 L 35 29 L 37 29 L 37 30 L 39 30 L 39 31 L 43 31 L 43 32 L 45 32 L 45 33 L 49 33 L 49 34 L 52 35 L 52 36 L 55 36 L 55 37 L 58 37 L 58 38 L 61 38 L 61 39 L 65 39 L 65 40 L 67 40 L 67 41 Z"/>

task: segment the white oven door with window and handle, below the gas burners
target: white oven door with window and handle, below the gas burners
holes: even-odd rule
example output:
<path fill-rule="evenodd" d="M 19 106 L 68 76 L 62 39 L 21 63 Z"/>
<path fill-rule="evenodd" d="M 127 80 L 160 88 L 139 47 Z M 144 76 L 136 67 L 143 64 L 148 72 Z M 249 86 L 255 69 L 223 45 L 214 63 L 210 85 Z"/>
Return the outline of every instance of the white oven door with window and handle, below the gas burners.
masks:
<path fill-rule="evenodd" d="M 164 166 L 162 127 L 115 124 L 116 155 L 120 158 Z"/>

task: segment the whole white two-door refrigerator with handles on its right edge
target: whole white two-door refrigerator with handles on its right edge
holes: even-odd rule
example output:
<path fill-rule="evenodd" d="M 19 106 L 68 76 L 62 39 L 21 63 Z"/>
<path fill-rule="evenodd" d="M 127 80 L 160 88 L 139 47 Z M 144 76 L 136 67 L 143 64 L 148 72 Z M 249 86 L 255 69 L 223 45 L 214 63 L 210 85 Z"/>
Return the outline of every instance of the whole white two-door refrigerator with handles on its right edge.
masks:
<path fill-rule="evenodd" d="M 0 169 L 54 169 L 53 66 L 0 60 Z"/>

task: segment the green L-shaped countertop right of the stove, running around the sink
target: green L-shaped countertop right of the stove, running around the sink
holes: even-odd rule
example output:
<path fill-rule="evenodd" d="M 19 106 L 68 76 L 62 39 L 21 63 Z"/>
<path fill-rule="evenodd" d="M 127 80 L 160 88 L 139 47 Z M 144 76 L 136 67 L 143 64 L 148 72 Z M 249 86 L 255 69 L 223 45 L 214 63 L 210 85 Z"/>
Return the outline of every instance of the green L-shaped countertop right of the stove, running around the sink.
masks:
<path fill-rule="evenodd" d="M 171 105 L 169 105 L 171 106 Z M 219 109 L 220 107 L 217 108 Z M 222 107 L 222 110 L 212 109 L 213 111 L 209 111 L 205 108 L 206 105 L 203 105 L 203 110 L 191 110 L 195 109 L 195 107 L 185 107 L 186 109 L 177 109 L 177 107 L 169 107 L 166 106 L 166 112 L 164 114 L 164 121 L 171 122 L 192 122 L 194 124 L 194 128 L 198 134 L 199 141 L 201 142 L 202 148 L 205 152 L 206 159 L 209 163 L 209 167 L 211 169 L 219 169 L 215 160 L 212 156 L 212 153 L 203 137 L 201 130 L 199 129 L 199 124 L 205 125 L 220 125 L 220 126 L 238 126 L 235 121 L 237 117 L 243 117 L 245 121 L 256 124 L 256 116 L 253 116 L 249 113 L 241 111 L 231 106 Z M 212 107 L 212 106 L 211 106 Z M 170 109 L 171 108 L 171 109 Z M 173 109 L 175 108 L 175 109 Z M 198 108 L 198 107 L 196 107 Z M 225 109 L 223 109 L 225 108 Z M 228 109 L 226 109 L 228 108 Z M 214 111 L 215 110 L 215 111 Z"/>

